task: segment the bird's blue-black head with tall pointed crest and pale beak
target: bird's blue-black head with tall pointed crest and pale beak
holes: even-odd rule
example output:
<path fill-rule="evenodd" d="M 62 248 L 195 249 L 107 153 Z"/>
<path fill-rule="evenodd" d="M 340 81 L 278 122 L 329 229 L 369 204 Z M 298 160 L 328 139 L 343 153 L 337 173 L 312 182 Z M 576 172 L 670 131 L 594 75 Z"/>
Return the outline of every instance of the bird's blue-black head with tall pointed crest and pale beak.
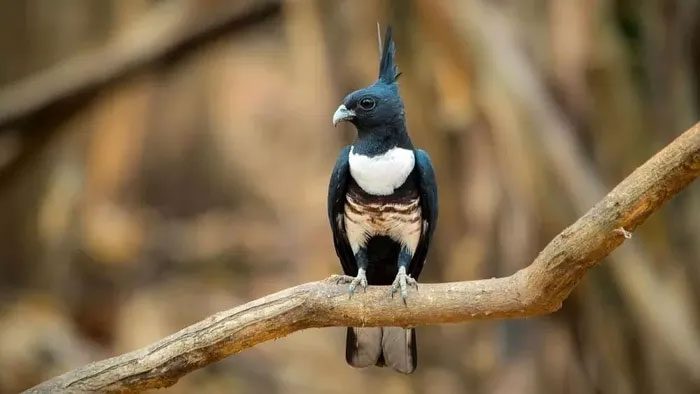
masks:
<path fill-rule="evenodd" d="M 345 97 L 333 114 L 334 126 L 347 121 L 362 133 L 365 130 L 404 121 L 403 101 L 396 83 L 400 73 L 394 62 L 395 51 L 389 26 L 379 61 L 379 79 L 374 84 Z"/>

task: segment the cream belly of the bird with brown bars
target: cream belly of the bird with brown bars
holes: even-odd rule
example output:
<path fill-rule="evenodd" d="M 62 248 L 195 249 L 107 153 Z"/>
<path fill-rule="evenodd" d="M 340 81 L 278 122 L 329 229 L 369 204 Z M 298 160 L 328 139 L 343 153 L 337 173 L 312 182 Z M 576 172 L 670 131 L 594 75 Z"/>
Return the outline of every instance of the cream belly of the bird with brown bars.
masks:
<path fill-rule="evenodd" d="M 353 253 L 365 247 L 374 236 L 388 236 L 411 255 L 421 234 L 421 207 L 418 197 L 396 203 L 361 201 L 348 193 L 345 203 L 345 231 Z"/>

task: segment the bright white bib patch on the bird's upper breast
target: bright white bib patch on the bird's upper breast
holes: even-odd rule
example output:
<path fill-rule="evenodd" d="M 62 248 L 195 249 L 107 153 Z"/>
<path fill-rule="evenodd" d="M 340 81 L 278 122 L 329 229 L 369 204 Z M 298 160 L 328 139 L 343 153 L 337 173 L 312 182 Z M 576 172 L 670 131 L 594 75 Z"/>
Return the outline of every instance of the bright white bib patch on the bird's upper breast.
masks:
<path fill-rule="evenodd" d="M 362 190 L 375 196 L 392 194 L 403 185 L 416 161 L 410 149 L 395 147 L 373 157 L 355 154 L 354 149 L 350 148 L 350 175 Z"/>

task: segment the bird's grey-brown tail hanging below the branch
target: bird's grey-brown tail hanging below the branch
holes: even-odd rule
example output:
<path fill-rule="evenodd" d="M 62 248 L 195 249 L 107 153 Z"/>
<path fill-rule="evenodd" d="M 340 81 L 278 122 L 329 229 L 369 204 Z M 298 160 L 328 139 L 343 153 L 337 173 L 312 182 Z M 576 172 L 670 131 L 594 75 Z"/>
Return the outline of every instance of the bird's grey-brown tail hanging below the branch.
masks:
<path fill-rule="evenodd" d="M 402 327 L 348 327 L 345 359 L 353 367 L 390 366 L 409 374 L 418 363 L 416 332 Z"/>

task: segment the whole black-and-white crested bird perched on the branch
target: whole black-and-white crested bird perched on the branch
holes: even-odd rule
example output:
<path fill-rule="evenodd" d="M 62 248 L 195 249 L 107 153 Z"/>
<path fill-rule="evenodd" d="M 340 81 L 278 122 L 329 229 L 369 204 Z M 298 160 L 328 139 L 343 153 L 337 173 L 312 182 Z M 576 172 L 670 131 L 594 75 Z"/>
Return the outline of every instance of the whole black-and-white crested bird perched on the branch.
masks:
<path fill-rule="evenodd" d="M 387 28 L 379 79 L 350 93 L 333 114 L 357 138 L 340 152 L 328 187 L 328 219 L 350 296 L 358 286 L 391 285 L 404 303 L 416 286 L 437 223 L 437 185 L 428 154 L 406 132 Z M 416 369 L 416 334 L 402 327 L 348 328 L 345 358 L 354 367 Z"/>

